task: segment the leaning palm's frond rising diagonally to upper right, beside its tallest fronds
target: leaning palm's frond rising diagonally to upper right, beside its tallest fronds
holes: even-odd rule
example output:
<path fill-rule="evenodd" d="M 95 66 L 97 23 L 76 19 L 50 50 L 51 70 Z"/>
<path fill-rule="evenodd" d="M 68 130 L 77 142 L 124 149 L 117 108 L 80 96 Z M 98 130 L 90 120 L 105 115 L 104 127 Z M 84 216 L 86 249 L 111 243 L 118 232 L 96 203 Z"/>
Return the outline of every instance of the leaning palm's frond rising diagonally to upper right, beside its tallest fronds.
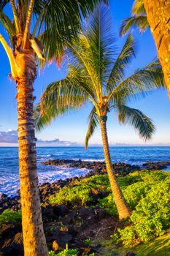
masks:
<path fill-rule="evenodd" d="M 129 34 L 123 49 L 121 50 L 119 56 L 117 57 L 112 71 L 109 75 L 109 80 L 107 82 L 106 91 L 111 92 L 120 80 L 124 78 L 125 69 L 131 63 L 131 60 L 135 56 L 135 42 L 134 37 Z"/>

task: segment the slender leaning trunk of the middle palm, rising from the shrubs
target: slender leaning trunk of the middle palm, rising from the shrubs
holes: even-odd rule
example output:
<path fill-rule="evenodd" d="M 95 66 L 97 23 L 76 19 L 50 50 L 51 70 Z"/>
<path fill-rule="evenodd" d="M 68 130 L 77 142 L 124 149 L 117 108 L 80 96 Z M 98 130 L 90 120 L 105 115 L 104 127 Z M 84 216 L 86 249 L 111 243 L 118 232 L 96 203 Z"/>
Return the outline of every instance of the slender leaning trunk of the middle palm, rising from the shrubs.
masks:
<path fill-rule="evenodd" d="M 125 219 L 131 216 L 131 212 L 129 211 L 128 206 L 125 203 L 125 198 L 123 197 L 123 193 L 121 192 L 119 184 L 117 184 L 117 179 L 112 170 L 112 162 L 111 162 L 111 157 L 109 153 L 109 143 L 107 138 L 107 116 L 101 116 L 100 124 L 101 124 L 101 137 L 103 140 L 103 147 L 104 147 L 104 159 L 107 166 L 109 183 L 112 189 L 113 197 L 115 199 L 115 204 L 117 206 L 119 218 Z"/>

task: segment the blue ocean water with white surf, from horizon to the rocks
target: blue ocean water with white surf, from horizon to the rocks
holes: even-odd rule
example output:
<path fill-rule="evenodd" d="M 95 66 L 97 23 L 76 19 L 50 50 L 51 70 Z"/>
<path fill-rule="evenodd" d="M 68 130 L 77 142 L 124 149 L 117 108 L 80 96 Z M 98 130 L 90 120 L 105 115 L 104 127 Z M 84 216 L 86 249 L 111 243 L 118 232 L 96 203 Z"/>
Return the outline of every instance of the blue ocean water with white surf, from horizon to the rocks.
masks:
<path fill-rule="evenodd" d="M 147 161 L 170 161 L 170 147 L 117 146 L 110 147 L 112 162 L 126 162 L 142 165 Z M 57 179 L 84 175 L 86 169 L 45 166 L 47 159 L 82 159 L 84 161 L 104 161 L 102 147 L 39 147 L 37 165 L 39 184 Z M 18 148 L 0 148 L 0 193 L 15 195 L 19 188 Z"/>

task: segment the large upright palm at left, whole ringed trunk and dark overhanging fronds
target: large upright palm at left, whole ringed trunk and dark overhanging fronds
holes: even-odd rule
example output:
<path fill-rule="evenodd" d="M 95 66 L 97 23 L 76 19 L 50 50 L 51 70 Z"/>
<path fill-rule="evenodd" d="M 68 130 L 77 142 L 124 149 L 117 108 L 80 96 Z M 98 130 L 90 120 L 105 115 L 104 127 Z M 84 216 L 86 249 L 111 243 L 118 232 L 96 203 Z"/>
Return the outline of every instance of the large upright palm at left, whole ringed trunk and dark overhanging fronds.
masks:
<path fill-rule="evenodd" d="M 80 27 L 82 16 L 93 10 L 96 3 L 98 0 L 0 1 L 0 21 L 7 31 L 10 46 L 1 34 L 0 42 L 7 53 L 18 92 L 20 197 L 25 256 L 48 255 L 36 171 L 33 118 L 36 64 L 45 65 L 46 61 L 53 59 L 61 62 L 66 40 L 72 39 Z M 5 12 L 7 7 L 11 8 L 12 17 Z"/>

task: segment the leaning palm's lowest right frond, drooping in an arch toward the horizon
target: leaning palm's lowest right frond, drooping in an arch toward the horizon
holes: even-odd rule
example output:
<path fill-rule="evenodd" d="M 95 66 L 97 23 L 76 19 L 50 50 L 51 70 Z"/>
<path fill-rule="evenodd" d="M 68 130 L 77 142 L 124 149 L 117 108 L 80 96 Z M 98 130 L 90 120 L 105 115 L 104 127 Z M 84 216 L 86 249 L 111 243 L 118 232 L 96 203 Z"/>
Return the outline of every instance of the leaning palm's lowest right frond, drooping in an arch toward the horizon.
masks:
<path fill-rule="evenodd" d="M 129 108 L 126 105 L 116 105 L 120 123 L 130 124 L 139 132 L 139 136 L 144 140 L 149 140 L 152 137 L 155 127 L 152 120 L 144 115 L 142 111 L 135 108 Z"/>

